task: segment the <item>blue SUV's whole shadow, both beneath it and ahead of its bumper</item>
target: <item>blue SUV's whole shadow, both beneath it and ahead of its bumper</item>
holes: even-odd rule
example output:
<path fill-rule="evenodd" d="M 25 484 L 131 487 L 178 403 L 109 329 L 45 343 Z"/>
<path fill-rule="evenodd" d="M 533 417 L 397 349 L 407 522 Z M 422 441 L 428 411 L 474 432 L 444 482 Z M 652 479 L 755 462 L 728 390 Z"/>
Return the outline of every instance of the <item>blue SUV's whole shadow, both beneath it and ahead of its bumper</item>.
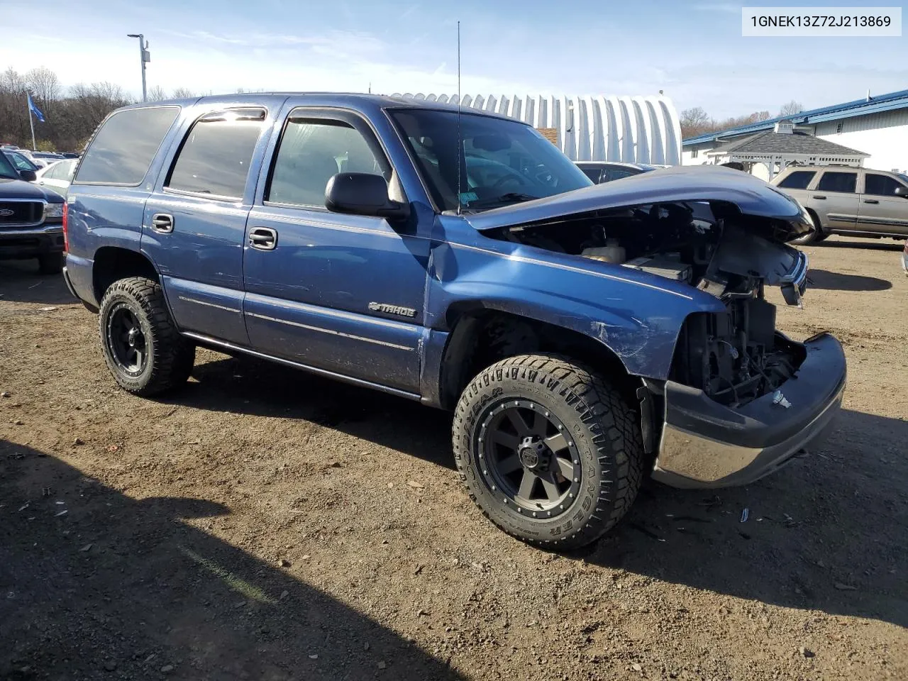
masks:
<path fill-rule="evenodd" d="M 452 466 L 445 412 L 245 358 L 200 364 L 193 377 L 199 382 L 173 403 L 309 419 Z M 844 410 L 816 453 L 749 487 L 684 491 L 647 481 L 627 518 L 572 558 L 908 627 L 905 442 L 908 421 Z"/>

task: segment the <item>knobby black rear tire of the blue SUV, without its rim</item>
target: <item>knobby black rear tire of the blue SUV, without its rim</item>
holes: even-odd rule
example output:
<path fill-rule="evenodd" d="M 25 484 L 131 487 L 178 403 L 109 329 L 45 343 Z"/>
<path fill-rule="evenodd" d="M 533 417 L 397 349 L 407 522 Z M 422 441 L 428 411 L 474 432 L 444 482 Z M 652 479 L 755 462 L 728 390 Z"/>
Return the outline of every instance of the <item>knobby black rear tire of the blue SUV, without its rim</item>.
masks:
<path fill-rule="evenodd" d="M 147 360 L 138 375 L 130 375 L 118 366 L 107 339 L 108 318 L 114 307 L 121 304 L 125 304 L 139 321 L 148 350 Z M 189 379 L 195 361 L 195 345 L 177 331 L 160 284 L 143 277 L 114 281 L 104 292 L 98 329 L 104 361 L 123 390 L 151 397 L 178 388 Z"/>

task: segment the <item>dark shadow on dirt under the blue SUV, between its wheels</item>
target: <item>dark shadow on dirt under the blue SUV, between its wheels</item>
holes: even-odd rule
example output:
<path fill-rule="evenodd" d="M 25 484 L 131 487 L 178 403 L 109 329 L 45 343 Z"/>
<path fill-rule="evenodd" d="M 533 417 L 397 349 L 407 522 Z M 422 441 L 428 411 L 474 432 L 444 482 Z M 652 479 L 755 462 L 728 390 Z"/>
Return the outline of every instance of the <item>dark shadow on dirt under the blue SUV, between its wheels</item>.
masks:
<path fill-rule="evenodd" d="M 323 379 L 252 357 L 197 363 L 165 402 L 196 409 L 303 419 L 454 468 L 451 415 L 419 402 Z"/>

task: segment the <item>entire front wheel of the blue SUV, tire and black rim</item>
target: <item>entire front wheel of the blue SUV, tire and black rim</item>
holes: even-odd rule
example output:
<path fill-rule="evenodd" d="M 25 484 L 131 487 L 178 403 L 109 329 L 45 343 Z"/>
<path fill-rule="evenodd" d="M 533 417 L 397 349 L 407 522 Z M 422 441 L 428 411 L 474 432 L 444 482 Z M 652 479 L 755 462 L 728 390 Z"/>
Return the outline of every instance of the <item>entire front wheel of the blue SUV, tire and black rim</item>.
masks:
<path fill-rule="evenodd" d="M 532 544 L 595 541 L 627 513 L 643 477 L 634 411 L 607 380 L 555 355 L 482 370 L 460 396 L 452 435 L 470 496 Z"/>

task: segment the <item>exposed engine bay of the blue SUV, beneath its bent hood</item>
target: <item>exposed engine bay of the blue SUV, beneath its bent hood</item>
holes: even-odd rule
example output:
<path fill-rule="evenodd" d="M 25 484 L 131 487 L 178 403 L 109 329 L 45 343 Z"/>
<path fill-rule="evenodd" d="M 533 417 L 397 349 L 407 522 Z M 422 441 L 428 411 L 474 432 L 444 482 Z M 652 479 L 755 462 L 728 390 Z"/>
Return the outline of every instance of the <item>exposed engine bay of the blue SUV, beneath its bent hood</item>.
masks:
<path fill-rule="evenodd" d="M 727 314 L 687 318 L 670 378 L 735 407 L 777 390 L 804 360 L 801 346 L 775 331 L 775 306 L 764 299 L 765 285 L 777 285 L 799 305 L 806 279 L 804 254 L 773 222 L 722 202 L 653 203 L 494 236 L 685 282 L 724 301 Z"/>

